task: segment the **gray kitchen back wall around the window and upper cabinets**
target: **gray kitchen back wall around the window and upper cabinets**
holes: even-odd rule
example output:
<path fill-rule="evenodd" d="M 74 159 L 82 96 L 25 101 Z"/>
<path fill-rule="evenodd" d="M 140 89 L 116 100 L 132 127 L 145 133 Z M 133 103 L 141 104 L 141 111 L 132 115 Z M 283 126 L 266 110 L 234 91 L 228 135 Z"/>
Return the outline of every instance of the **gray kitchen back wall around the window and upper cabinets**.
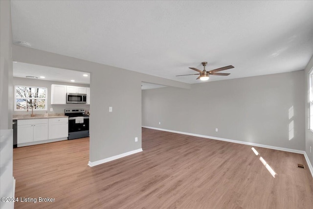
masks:
<path fill-rule="evenodd" d="M 49 114 L 64 114 L 64 109 L 66 108 L 79 108 L 84 110 L 89 110 L 89 105 L 86 104 L 54 104 L 51 105 L 51 84 L 59 84 L 59 85 L 67 85 L 67 86 L 82 86 L 82 87 L 89 87 L 86 84 L 73 84 L 73 83 L 65 83 L 65 82 L 57 82 L 57 81 L 46 81 L 46 80 L 37 80 L 31 78 L 20 78 L 20 77 L 13 77 L 13 85 L 14 86 L 36 86 L 36 87 L 45 87 L 47 88 L 47 110 L 45 111 L 35 111 L 34 114 L 45 114 L 48 112 Z M 15 101 L 13 98 L 13 115 L 29 115 L 30 112 L 25 110 L 23 111 L 14 111 Z M 53 108 L 53 111 L 50 112 L 50 108 Z"/>

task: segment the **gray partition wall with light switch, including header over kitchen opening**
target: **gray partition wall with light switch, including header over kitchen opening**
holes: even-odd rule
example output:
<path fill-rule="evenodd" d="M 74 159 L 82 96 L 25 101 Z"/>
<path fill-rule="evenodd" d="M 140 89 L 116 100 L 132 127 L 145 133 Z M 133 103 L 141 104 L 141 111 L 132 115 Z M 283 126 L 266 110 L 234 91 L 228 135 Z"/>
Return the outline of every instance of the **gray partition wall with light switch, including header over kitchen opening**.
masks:
<path fill-rule="evenodd" d="M 186 83 L 29 47 L 13 45 L 12 56 L 18 62 L 90 72 L 90 162 L 141 148 L 141 81 L 190 88 Z"/>

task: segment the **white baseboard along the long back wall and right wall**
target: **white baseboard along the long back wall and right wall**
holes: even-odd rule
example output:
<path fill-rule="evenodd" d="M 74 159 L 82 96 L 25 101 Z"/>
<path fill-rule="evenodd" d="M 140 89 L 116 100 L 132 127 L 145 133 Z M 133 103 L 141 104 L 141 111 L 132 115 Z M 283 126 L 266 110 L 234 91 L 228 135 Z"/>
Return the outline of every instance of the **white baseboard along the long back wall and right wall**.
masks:
<path fill-rule="evenodd" d="M 142 127 L 143 128 L 149 128 L 149 129 L 155 129 L 155 130 L 159 130 L 159 131 L 167 131 L 167 132 L 172 132 L 172 133 L 177 133 L 177 134 L 184 134 L 184 135 L 189 135 L 189 136 L 201 137 L 201 138 L 206 138 L 206 139 L 215 139 L 215 140 L 221 140 L 221 141 L 228 141 L 228 142 L 232 142 L 232 143 L 246 144 L 246 145 L 251 145 L 251 146 L 256 146 L 256 147 L 263 147 L 263 148 L 268 148 L 268 149 L 275 149 L 275 150 L 280 150 L 280 151 L 286 151 L 286 152 L 293 152 L 293 153 L 303 154 L 304 158 L 307 161 L 307 164 L 309 166 L 311 175 L 313 177 L 313 167 L 312 167 L 312 164 L 309 161 L 309 157 L 308 157 L 307 153 L 305 151 L 303 151 L 303 150 L 289 149 L 289 148 L 284 148 L 284 147 L 276 147 L 276 146 L 252 143 L 252 142 L 247 142 L 247 141 L 238 141 L 238 140 L 233 140 L 233 139 L 224 139 L 224 138 L 218 138 L 218 137 L 210 137 L 210 136 L 205 136 L 205 135 L 200 135 L 200 134 L 192 134 L 192 133 L 186 133 L 186 132 L 181 132 L 181 131 L 173 131 L 173 130 L 162 129 L 162 128 L 155 128 L 155 127 L 150 127 L 150 126 L 142 126 Z"/>

